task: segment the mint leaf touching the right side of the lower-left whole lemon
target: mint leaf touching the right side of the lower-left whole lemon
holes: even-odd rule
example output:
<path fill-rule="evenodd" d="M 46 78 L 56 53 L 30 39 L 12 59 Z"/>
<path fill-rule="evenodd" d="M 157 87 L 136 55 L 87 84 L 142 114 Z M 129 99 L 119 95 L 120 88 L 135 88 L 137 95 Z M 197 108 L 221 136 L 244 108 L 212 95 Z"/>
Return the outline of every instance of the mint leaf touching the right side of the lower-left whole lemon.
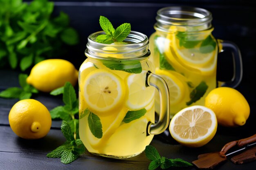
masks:
<path fill-rule="evenodd" d="M 71 116 L 67 110 L 63 106 L 57 106 L 56 108 L 53 108 L 50 110 L 50 114 L 52 116 L 52 119 L 62 119 L 65 121 L 71 120 Z"/>

